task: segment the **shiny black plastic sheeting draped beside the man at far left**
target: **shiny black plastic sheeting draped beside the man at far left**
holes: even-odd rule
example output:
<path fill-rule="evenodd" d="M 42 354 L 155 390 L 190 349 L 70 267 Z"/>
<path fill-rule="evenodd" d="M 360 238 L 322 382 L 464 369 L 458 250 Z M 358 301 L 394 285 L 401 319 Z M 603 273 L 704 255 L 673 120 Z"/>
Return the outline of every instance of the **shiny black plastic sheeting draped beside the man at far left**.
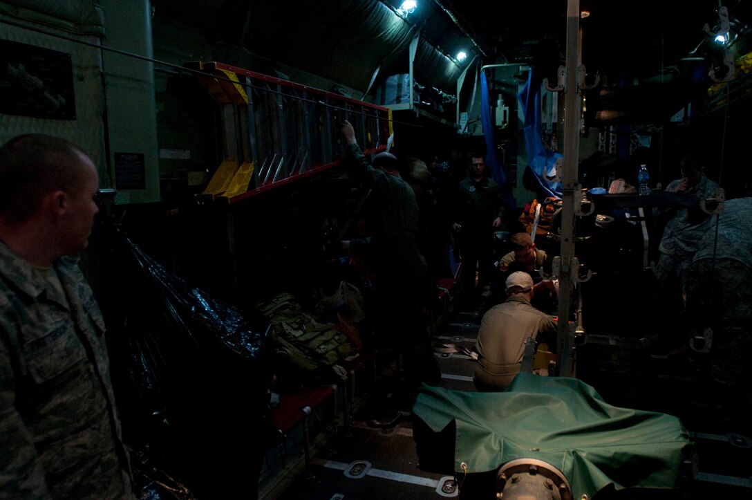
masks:
<path fill-rule="evenodd" d="M 186 283 L 116 227 L 103 232 L 99 300 L 141 498 L 256 498 L 272 436 L 268 323 Z"/>

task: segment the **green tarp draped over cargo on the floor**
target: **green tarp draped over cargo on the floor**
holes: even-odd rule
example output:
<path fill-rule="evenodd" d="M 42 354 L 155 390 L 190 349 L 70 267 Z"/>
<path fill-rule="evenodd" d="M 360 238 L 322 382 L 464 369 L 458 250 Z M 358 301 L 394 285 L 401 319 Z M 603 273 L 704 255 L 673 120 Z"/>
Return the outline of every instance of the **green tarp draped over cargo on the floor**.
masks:
<path fill-rule="evenodd" d="M 678 418 L 608 405 L 568 377 L 521 373 L 505 392 L 423 385 L 413 417 L 423 470 L 453 472 L 462 485 L 468 475 L 537 460 L 566 477 L 573 498 L 607 487 L 675 489 L 692 449 Z"/>

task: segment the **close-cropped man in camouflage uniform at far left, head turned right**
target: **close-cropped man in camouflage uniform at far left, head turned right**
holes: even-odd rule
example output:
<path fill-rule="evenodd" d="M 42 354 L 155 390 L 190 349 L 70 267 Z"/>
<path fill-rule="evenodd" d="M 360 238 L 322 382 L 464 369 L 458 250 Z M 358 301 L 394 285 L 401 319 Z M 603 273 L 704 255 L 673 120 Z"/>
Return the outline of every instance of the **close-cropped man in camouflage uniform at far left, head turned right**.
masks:
<path fill-rule="evenodd" d="M 105 325 L 73 255 L 99 211 L 74 144 L 0 148 L 0 498 L 135 498 Z"/>

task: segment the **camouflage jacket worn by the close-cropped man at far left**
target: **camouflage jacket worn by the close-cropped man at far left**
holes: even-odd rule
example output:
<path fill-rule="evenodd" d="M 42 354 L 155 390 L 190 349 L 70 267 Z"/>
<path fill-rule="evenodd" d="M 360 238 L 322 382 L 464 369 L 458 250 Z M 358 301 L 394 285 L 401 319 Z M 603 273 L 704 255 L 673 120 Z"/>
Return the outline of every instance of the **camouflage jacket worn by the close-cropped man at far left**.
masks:
<path fill-rule="evenodd" d="M 0 242 L 0 498 L 133 498 L 102 313 L 54 268 L 62 289 Z"/>

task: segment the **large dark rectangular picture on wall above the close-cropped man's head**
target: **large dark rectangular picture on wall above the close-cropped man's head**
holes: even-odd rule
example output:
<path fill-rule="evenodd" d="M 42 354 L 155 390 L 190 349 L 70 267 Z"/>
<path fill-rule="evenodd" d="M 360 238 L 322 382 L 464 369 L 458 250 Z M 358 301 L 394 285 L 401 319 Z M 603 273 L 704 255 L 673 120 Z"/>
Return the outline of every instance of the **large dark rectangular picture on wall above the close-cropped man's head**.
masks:
<path fill-rule="evenodd" d="M 71 55 L 0 40 L 0 113 L 75 120 Z"/>

